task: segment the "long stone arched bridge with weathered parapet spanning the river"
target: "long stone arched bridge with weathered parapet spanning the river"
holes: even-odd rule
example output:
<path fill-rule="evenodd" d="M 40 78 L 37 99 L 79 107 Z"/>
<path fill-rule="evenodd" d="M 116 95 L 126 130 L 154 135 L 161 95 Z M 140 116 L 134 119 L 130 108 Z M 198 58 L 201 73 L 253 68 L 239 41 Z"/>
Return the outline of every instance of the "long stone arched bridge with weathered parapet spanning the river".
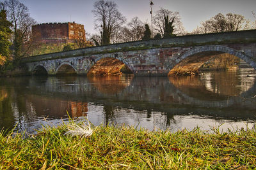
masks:
<path fill-rule="evenodd" d="M 87 74 L 100 59 L 124 62 L 135 76 L 167 76 L 172 69 L 198 69 L 216 55 L 229 53 L 256 69 L 256 30 L 177 36 L 93 46 L 68 52 L 49 53 L 22 59 L 28 71 L 44 70 L 54 75 L 65 67 Z"/>

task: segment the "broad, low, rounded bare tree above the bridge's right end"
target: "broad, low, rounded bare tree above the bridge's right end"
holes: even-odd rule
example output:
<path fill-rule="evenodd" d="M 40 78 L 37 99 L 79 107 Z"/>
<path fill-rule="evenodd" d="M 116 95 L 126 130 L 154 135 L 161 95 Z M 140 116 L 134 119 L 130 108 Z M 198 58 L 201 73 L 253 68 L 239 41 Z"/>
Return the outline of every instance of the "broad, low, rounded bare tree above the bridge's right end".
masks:
<path fill-rule="evenodd" d="M 201 26 L 197 27 L 193 34 L 210 33 L 210 32 L 227 32 L 251 29 L 249 20 L 243 15 L 227 13 L 223 15 L 218 13 L 214 17 L 201 22 Z"/>

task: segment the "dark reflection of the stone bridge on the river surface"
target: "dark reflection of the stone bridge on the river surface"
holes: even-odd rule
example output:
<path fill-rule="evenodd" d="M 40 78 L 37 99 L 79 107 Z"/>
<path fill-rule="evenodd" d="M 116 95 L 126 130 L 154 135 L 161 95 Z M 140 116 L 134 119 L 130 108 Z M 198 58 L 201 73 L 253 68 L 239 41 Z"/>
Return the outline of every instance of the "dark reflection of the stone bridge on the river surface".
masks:
<path fill-rule="evenodd" d="M 67 80 L 50 77 L 44 83 L 35 78 L 29 81 L 29 87 L 34 89 L 25 92 L 29 94 L 29 91 L 33 91 L 33 94 L 46 97 L 61 97 L 62 100 L 92 102 L 138 111 L 159 111 L 169 115 L 193 112 L 213 117 L 255 119 L 256 99 L 252 98 L 256 94 L 255 84 L 242 94 L 239 94 L 236 86 L 234 90 L 231 88 L 229 94 L 221 94 L 207 90 L 198 76 L 187 78 L 168 80 L 164 77 L 134 77 L 131 80 L 121 76 L 116 79 L 105 77 L 104 80 L 70 77 Z"/>

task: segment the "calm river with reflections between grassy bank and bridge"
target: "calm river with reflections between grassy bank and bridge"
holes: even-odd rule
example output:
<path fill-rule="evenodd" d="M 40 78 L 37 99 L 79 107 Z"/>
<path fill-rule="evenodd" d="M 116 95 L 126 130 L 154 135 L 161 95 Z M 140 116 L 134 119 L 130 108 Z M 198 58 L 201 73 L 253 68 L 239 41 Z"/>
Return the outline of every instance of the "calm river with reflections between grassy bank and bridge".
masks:
<path fill-rule="evenodd" d="M 205 72 L 200 76 L 63 76 L 0 78 L 0 128 L 35 132 L 67 122 L 94 125 L 221 131 L 253 127 L 256 71 Z"/>

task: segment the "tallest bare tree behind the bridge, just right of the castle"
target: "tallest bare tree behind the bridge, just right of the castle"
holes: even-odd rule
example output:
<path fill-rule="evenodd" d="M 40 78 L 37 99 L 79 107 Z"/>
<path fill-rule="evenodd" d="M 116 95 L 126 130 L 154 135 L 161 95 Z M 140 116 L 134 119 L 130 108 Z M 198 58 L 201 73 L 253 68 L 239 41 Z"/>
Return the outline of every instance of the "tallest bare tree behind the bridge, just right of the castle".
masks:
<path fill-rule="evenodd" d="M 99 0 L 94 3 L 92 10 L 95 17 L 95 29 L 100 31 L 101 45 L 108 45 L 116 36 L 115 33 L 125 23 L 125 17 L 118 11 L 113 1 Z"/>

